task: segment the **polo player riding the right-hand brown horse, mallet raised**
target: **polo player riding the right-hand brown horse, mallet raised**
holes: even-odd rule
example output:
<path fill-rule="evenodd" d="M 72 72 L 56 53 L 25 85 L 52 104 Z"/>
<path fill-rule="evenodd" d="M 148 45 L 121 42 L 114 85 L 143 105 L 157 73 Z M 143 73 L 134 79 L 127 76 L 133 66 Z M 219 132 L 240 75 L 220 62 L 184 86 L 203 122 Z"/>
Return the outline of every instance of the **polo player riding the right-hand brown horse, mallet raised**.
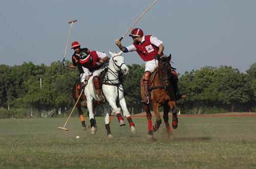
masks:
<path fill-rule="evenodd" d="M 149 86 L 150 74 L 156 69 L 156 66 L 158 63 L 158 61 L 155 58 L 163 56 L 163 50 L 164 50 L 164 46 L 162 44 L 163 42 L 157 39 L 157 37 L 153 35 L 143 36 L 143 31 L 139 28 L 133 29 L 129 36 L 133 38 L 132 45 L 124 47 L 121 45 L 120 40 L 116 40 L 116 45 L 123 52 L 137 51 L 141 59 L 145 61 L 145 71 L 142 76 L 145 97 L 142 100 L 142 102 L 145 104 L 148 104 L 149 103 L 148 86 Z M 185 95 L 180 94 L 178 91 L 177 73 L 174 70 L 172 71 L 172 73 L 176 74 L 176 80 L 175 80 L 176 82 L 174 84 L 176 99 L 184 98 Z"/>

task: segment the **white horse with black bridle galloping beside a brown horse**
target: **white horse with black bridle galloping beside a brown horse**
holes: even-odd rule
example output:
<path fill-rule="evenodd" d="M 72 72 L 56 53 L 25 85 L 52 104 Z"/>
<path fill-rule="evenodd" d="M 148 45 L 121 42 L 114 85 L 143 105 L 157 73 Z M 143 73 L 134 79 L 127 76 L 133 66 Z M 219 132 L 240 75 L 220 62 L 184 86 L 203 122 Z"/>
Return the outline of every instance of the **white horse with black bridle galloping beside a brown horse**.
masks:
<path fill-rule="evenodd" d="M 105 96 L 106 102 L 108 102 L 112 108 L 112 113 L 115 112 L 117 119 L 119 121 L 119 125 L 123 126 L 125 124 L 120 114 L 121 109 L 116 105 L 116 100 L 119 99 L 120 106 L 123 110 L 123 115 L 126 116 L 132 133 L 135 133 L 136 130 L 134 127 L 134 123 L 132 121 L 130 112 L 126 106 L 123 86 L 119 81 L 120 73 L 123 76 L 126 75 L 129 72 L 129 68 L 124 64 L 124 58 L 121 56 L 122 51 L 119 53 L 116 53 L 116 52 L 112 53 L 109 51 L 109 53 L 112 55 L 112 57 L 110 58 L 110 61 L 109 61 L 108 71 L 105 73 L 105 76 L 104 76 L 105 80 L 103 81 L 103 84 L 102 84 L 102 91 Z M 93 77 L 90 77 L 90 79 L 88 80 L 88 85 L 84 89 L 84 94 L 86 95 L 86 98 L 87 98 L 87 108 L 89 110 L 89 118 L 91 122 L 91 134 L 95 134 L 96 128 L 95 128 L 94 113 L 93 113 L 93 99 L 99 101 L 99 97 L 95 92 L 92 79 Z M 106 103 L 104 103 L 104 106 L 105 104 Z M 111 115 L 111 111 L 106 112 L 105 127 L 106 127 L 106 132 L 108 134 L 108 137 L 113 137 L 110 131 L 110 115 Z"/>

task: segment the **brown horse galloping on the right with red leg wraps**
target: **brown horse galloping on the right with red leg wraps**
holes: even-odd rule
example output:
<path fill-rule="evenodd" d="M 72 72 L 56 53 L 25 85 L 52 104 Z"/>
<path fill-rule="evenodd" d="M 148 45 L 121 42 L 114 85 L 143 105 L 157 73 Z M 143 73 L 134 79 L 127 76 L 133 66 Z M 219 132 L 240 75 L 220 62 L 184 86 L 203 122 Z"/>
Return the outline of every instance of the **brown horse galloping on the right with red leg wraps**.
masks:
<path fill-rule="evenodd" d="M 169 109 L 172 110 L 173 113 L 173 128 L 176 129 L 178 127 L 178 118 L 177 118 L 177 109 L 176 109 L 176 97 L 174 90 L 174 78 L 172 77 L 172 66 L 170 65 L 171 55 L 169 57 L 159 57 L 158 66 L 156 70 L 151 74 L 150 79 L 150 104 L 153 107 L 153 110 L 156 115 L 156 123 L 152 126 L 152 115 L 150 112 L 150 104 L 143 104 L 143 108 L 146 111 L 147 123 L 148 123 L 148 139 L 154 139 L 153 131 L 157 131 L 162 123 L 159 107 L 163 106 L 163 119 L 165 123 L 165 127 L 167 129 L 167 134 L 169 138 L 172 138 L 172 128 L 169 125 L 168 112 Z M 141 98 L 144 98 L 144 88 L 141 78 Z"/>

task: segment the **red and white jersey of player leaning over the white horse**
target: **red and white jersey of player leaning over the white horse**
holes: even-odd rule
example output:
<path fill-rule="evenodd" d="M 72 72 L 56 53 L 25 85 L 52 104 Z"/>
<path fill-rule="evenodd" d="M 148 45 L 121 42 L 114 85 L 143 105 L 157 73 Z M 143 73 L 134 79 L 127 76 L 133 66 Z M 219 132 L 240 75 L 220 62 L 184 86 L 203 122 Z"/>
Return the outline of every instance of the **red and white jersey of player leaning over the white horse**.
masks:
<path fill-rule="evenodd" d="M 105 53 L 96 50 L 91 51 L 90 55 L 92 57 L 92 61 L 90 62 L 90 64 L 82 64 L 83 71 L 88 69 L 90 72 L 92 72 L 95 69 L 99 69 L 102 66 L 99 60 L 106 57 Z"/>

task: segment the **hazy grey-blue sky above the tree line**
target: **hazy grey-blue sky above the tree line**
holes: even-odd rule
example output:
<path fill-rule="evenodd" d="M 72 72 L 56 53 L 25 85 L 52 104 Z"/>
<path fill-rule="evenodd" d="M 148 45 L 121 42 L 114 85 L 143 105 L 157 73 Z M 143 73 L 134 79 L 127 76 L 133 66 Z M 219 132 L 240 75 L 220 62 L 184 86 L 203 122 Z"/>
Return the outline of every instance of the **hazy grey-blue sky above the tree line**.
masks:
<path fill-rule="evenodd" d="M 62 60 L 70 25 L 72 41 L 98 51 L 119 51 L 120 38 L 152 0 L 1 0 L 0 64 Z M 173 66 L 184 73 L 203 66 L 229 65 L 245 72 L 256 62 L 255 0 L 160 0 L 135 25 L 163 41 Z M 124 46 L 132 39 L 122 40 Z M 137 52 L 127 64 L 142 64 Z"/>

